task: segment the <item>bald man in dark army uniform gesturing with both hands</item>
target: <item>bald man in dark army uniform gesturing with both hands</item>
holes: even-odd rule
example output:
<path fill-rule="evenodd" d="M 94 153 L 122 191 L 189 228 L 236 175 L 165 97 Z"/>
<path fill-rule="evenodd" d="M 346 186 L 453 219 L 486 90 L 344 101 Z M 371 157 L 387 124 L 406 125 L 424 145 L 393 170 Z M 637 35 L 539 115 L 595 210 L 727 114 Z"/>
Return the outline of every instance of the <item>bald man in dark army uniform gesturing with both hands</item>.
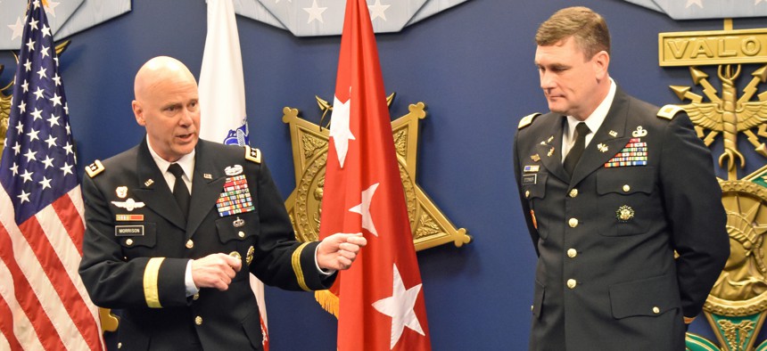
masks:
<path fill-rule="evenodd" d="M 197 83 L 180 61 L 147 61 L 135 94 L 144 141 L 95 161 L 83 181 L 79 273 L 90 298 L 123 310 L 122 349 L 260 350 L 249 273 L 286 290 L 327 289 L 367 241 L 295 241 L 260 151 L 198 140 Z"/>

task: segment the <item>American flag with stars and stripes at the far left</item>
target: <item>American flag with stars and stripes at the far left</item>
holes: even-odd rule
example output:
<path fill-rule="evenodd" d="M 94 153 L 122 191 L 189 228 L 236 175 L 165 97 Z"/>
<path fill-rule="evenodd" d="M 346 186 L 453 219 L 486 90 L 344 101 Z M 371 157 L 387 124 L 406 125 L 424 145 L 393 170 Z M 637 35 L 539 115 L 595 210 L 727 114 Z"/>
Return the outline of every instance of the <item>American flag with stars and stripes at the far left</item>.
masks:
<path fill-rule="evenodd" d="M 103 349 L 78 275 L 85 232 L 69 111 L 44 6 L 28 6 L 0 161 L 0 349 Z"/>

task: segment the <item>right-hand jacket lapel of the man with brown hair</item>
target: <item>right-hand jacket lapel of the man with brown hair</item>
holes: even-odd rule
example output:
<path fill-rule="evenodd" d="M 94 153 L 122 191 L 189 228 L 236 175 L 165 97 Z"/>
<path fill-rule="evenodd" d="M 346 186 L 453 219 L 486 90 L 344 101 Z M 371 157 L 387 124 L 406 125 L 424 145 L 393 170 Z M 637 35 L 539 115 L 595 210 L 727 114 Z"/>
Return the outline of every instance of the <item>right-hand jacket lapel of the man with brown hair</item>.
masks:
<path fill-rule="evenodd" d="M 605 121 L 586 146 L 581 160 L 573 170 L 571 185 L 580 183 L 583 178 L 599 167 L 604 167 L 608 160 L 623 150 L 626 143 L 629 143 L 631 135 L 626 135 L 626 119 L 629 118 L 630 110 L 628 95 L 617 87 L 613 105 L 610 106 Z"/>

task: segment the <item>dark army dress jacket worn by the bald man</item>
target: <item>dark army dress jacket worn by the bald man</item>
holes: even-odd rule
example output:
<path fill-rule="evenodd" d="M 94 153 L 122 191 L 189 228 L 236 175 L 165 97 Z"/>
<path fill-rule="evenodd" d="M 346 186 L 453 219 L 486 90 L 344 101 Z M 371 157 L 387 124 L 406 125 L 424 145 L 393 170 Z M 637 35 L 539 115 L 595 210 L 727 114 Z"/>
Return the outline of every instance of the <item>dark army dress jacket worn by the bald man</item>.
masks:
<path fill-rule="evenodd" d="M 295 240 L 260 151 L 200 140 L 194 157 L 188 220 L 145 139 L 87 168 L 79 273 L 96 306 L 122 310 L 120 349 L 260 350 L 249 273 L 285 290 L 334 282 L 318 272 L 318 242 Z M 243 269 L 228 290 L 187 297 L 187 262 L 218 252 L 241 257 Z"/>

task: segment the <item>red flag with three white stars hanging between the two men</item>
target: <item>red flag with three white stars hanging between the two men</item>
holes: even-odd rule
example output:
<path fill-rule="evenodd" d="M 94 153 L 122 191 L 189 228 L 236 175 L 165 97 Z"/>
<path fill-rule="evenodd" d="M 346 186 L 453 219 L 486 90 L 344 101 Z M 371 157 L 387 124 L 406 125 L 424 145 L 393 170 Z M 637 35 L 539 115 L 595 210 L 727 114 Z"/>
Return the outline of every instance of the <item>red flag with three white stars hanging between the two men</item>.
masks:
<path fill-rule="evenodd" d="M 338 349 L 429 350 L 421 274 L 365 0 L 346 4 L 333 109 L 320 237 L 367 238 L 332 289 L 339 298 Z"/>

